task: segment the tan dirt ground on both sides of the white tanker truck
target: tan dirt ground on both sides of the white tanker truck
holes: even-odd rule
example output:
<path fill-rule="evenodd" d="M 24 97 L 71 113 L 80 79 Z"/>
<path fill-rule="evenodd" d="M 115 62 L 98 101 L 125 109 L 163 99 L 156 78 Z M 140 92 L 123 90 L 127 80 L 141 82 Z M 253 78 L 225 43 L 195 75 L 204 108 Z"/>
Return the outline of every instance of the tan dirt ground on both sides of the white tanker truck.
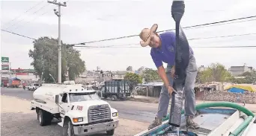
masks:
<path fill-rule="evenodd" d="M 147 129 L 148 123 L 119 118 L 115 135 L 135 135 Z M 40 126 L 37 114 L 30 110 L 30 101 L 1 95 L 1 135 L 2 136 L 57 136 L 61 127 L 56 122 L 50 126 Z M 102 134 L 104 135 L 104 134 Z"/>

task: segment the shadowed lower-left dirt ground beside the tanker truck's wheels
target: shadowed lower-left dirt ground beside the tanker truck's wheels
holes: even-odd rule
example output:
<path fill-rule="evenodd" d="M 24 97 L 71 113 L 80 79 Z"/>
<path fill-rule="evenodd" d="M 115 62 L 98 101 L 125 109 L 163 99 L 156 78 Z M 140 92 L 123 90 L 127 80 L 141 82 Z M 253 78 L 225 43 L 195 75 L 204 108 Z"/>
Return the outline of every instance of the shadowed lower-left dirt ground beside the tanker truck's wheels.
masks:
<path fill-rule="evenodd" d="M 62 128 L 57 123 L 58 120 L 52 120 L 51 125 L 40 126 L 35 113 L 1 113 L 1 136 L 59 136 Z M 106 133 L 91 136 L 106 136 Z"/>

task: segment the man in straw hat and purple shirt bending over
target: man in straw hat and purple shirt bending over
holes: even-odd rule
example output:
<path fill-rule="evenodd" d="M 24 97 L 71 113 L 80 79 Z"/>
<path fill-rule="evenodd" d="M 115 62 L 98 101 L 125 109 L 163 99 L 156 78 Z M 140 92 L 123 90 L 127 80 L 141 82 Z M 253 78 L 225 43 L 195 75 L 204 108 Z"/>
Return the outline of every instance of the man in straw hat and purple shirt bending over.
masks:
<path fill-rule="evenodd" d="M 158 111 L 155 120 L 148 126 L 148 129 L 153 129 L 162 124 L 162 119 L 166 117 L 172 88 L 174 82 L 174 62 L 175 62 L 175 33 L 168 31 L 165 33 L 156 33 L 158 25 L 154 24 L 150 29 L 144 28 L 139 34 L 141 38 L 140 45 L 142 47 L 150 46 L 150 56 L 156 65 L 159 77 L 161 77 L 162 85 Z M 162 65 L 162 62 L 167 63 L 167 68 Z M 198 67 L 195 62 L 194 52 L 189 47 L 189 65 L 186 68 L 186 81 L 184 85 L 185 94 L 185 115 L 186 125 L 188 128 L 198 129 L 199 125 L 192 119 L 195 116 L 195 77 L 198 73 Z"/>

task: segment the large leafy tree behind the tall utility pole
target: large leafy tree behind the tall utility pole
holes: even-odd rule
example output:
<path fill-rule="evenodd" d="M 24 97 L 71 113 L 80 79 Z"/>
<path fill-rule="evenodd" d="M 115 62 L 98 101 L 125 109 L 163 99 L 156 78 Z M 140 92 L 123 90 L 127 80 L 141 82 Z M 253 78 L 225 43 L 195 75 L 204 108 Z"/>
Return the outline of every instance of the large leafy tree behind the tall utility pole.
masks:
<path fill-rule="evenodd" d="M 58 82 L 58 39 L 45 36 L 34 40 L 33 43 L 34 50 L 30 50 L 28 55 L 33 58 L 31 65 L 38 76 L 45 82 L 54 82 L 52 77 Z M 61 82 L 65 80 L 67 71 L 70 80 L 75 80 L 75 77 L 85 71 L 85 62 L 80 59 L 79 51 L 67 48 L 62 42 L 61 45 Z M 49 74 L 52 74 L 52 77 Z"/>

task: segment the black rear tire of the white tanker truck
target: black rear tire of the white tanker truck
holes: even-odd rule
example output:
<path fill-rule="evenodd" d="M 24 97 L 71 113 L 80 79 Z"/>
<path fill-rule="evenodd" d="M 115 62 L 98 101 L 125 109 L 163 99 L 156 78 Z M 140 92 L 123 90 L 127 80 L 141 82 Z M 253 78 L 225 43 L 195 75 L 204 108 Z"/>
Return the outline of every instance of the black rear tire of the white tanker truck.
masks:
<path fill-rule="evenodd" d="M 39 121 L 40 126 L 50 125 L 52 123 L 52 114 L 40 109 L 37 112 L 37 119 Z"/>

